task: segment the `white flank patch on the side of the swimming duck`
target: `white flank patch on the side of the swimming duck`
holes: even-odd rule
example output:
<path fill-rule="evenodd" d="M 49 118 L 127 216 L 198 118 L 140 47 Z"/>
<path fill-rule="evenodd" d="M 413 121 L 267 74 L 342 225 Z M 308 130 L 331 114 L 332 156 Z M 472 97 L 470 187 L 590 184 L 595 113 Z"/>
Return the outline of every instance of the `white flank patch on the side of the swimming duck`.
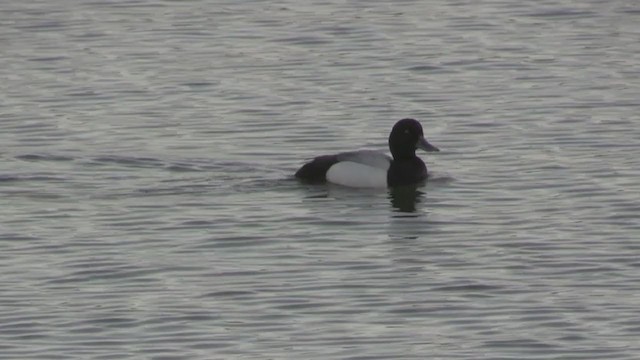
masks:
<path fill-rule="evenodd" d="M 387 187 L 387 170 L 352 161 L 341 161 L 329 168 L 327 180 L 349 187 Z"/>

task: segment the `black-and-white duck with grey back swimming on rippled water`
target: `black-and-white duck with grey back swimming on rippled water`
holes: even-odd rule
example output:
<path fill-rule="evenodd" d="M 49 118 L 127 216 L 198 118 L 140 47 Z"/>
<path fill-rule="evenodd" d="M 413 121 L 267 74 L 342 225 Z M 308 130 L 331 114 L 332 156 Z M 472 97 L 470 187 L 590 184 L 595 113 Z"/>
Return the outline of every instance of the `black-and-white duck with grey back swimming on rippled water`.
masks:
<path fill-rule="evenodd" d="M 424 137 L 415 119 L 402 119 L 389 133 L 391 156 L 373 150 L 357 150 L 313 158 L 295 177 L 311 184 L 331 183 L 346 187 L 378 188 L 413 185 L 428 177 L 427 166 L 416 150 L 440 151 Z"/>

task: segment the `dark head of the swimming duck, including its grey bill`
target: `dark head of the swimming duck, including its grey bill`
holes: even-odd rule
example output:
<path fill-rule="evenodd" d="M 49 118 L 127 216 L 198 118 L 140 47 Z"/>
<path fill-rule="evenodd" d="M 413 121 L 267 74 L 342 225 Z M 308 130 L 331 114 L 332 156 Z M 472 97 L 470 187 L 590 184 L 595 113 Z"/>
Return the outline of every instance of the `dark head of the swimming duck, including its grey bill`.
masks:
<path fill-rule="evenodd" d="M 389 150 L 396 160 L 413 159 L 416 149 L 440 151 L 424 138 L 422 125 L 414 119 L 402 119 L 393 125 L 389 134 Z"/>

